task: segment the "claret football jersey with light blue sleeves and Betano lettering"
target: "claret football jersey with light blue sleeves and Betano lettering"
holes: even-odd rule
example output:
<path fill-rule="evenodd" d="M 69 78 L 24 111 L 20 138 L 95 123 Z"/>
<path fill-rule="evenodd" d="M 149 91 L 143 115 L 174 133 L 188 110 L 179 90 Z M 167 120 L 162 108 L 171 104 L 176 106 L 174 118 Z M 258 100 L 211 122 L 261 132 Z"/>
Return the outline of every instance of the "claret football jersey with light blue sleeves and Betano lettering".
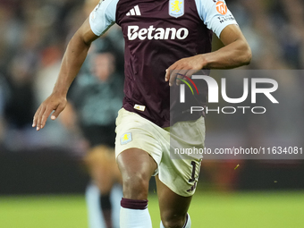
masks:
<path fill-rule="evenodd" d="M 236 21 L 224 0 L 104 0 L 90 13 L 97 36 L 114 23 L 125 40 L 122 106 L 168 127 L 173 104 L 165 70 L 184 57 L 210 52 L 212 33 L 219 37 Z"/>

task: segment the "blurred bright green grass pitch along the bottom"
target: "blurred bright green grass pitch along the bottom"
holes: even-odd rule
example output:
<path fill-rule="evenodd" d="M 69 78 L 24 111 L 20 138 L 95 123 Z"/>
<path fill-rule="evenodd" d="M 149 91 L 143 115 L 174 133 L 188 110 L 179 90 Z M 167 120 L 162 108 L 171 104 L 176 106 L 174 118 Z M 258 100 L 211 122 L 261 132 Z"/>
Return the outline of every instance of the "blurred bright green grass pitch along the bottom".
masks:
<path fill-rule="evenodd" d="M 153 227 L 159 227 L 156 194 L 150 194 Z M 193 228 L 304 227 L 304 192 L 197 192 L 190 215 Z M 86 228 L 83 196 L 0 197 L 1 228 Z"/>

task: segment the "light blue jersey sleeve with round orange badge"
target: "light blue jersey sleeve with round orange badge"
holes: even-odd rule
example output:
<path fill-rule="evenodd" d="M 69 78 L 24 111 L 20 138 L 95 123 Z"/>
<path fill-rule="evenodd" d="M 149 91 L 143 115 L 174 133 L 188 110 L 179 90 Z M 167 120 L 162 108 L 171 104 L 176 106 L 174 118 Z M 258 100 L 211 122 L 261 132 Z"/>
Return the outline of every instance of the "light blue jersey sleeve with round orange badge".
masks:
<path fill-rule="evenodd" d="M 227 25 L 238 24 L 224 0 L 195 0 L 195 3 L 200 19 L 204 21 L 209 30 L 215 32 L 218 38 Z"/>

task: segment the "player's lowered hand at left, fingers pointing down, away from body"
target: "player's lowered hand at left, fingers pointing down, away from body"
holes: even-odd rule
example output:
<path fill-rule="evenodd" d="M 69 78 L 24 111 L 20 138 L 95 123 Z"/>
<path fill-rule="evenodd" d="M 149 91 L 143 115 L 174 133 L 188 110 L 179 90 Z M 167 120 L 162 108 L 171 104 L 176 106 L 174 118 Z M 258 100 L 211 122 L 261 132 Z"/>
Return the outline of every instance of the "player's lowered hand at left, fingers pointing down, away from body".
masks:
<path fill-rule="evenodd" d="M 53 111 L 55 111 L 51 115 L 51 119 L 54 121 L 58 117 L 58 115 L 63 111 L 66 104 L 66 96 L 52 93 L 51 96 L 47 97 L 46 100 L 38 107 L 38 110 L 34 115 L 32 127 L 36 127 L 37 131 L 43 129 L 46 125 L 46 120 L 48 116 Z"/>

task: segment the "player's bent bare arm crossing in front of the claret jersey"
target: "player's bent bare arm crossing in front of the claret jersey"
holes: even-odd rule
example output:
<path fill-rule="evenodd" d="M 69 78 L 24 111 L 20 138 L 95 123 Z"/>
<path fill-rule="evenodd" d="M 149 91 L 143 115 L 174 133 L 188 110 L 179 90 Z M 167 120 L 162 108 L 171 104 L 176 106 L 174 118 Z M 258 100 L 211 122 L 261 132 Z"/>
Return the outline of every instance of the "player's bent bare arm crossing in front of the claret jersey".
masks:
<path fill-rule="evenodd" d="M 203 68 L 231 69 L 250 63 L 251 49 L 239 26 L 228 25 L 221 32 L 220 39 L 224 44 L 221 49 L 207 54 L 183 58 L 173 63 L 165 72 L 165 81 L 170 79 L 169 85 L 173 84 L 176 78 L 173 75 L 170 77 L 170 72 L 173 70 L 191 76 L 194 72 Z"/>

